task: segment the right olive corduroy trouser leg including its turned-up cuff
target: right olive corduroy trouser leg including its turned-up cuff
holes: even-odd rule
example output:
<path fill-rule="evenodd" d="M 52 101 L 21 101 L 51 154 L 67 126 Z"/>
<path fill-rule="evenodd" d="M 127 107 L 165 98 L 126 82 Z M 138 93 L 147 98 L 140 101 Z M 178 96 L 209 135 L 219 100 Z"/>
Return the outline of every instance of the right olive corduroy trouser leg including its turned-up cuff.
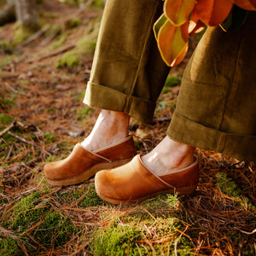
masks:
<path fill-rule="evenodd" d="M 208 28 L 183 74 L 167 135 L 256 161 L 256 13 L 234 33 Z"/>

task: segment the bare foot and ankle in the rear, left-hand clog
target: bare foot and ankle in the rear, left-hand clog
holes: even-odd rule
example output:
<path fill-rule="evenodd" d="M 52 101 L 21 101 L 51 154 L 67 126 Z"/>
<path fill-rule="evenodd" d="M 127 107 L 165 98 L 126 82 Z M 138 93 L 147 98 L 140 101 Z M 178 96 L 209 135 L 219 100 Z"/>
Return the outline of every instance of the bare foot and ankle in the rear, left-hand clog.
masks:
<path fill-rule="evenodd" d="M 129 134 L 130 116 L 122 112 L 102 110 L 90 135 L 81 146 L 90 151 L 118 143 Z"/>

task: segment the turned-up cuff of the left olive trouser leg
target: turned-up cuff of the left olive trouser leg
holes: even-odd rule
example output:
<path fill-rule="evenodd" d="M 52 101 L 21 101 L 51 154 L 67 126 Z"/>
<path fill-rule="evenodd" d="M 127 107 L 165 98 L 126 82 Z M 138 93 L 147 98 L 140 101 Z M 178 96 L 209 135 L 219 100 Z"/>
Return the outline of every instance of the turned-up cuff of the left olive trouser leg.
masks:
<path fill-rule="evenodd" d="M 128 113 L 138 121 L 147 124 L 152 122 L 155 108 L 155 102 L 136 96 L 127 96 L 119 90 L 90 82 L 87 84 L 84 103 L 92 108 Z"/>

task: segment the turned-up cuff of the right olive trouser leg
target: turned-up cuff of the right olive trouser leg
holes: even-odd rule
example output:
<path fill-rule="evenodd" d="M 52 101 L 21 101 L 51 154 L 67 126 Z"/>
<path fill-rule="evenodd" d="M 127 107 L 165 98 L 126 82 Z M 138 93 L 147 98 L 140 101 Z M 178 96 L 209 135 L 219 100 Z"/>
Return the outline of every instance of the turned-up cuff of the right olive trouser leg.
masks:
<path fill-rule="evenodd" d="M 256 136 L 218 131 L 183 117 L 177 111 L 173 114 L 167 136 L 179 143 L 232 155 L 239 160 L 256 161 Z"/>

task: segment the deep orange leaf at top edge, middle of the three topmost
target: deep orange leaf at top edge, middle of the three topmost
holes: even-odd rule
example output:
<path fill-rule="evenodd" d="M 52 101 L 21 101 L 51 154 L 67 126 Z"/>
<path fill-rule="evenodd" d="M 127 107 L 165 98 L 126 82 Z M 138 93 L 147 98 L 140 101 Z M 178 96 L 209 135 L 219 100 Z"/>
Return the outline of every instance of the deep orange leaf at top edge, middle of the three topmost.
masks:
<path fill-rule="evenodd" d="M 232 6 L 230 0 L 198 0 L 195 13 L 208 26 L 218 26 L 230 14 Z"/>

